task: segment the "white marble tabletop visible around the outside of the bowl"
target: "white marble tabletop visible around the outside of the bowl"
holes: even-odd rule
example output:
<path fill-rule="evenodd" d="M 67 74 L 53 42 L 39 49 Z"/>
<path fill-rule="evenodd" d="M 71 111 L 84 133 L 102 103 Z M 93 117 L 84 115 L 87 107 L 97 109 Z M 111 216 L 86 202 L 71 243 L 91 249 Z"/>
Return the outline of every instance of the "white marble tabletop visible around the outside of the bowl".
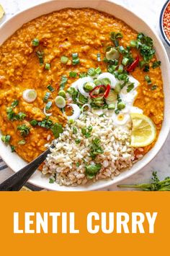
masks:
<path fill-rule="evenodd" d="M 0 0 L 0 4 L 4 7 L 6 15 L 2 22 L 9 19 L 16 12 L 22 9 L 27 9 L 35 4 L 40 4 L 46 0 Z M 64 0 L 63 0 L 64 1 Z M 113 0 L 117 4 L 121 4 L 128 9 L 138 14 L 143 20 L 146 20 L 148 25 L 153 27 L 154 30 L 158 31 L 158 17 L 161 12 L 161 7 L 163 7 L 165 0 Z M 0 22 L 1 24 L 1 22 Z M 166 50 L 170 57 L 170 49 L 166 47 Z M 165 176 L 170 176 L 170 135 L 164 144 L 164 147 L 158 153 L 156 158 L 151 161 L 145 168 L 141 169 L 138 174 L 131 176 L 129 179 L 125 179 L 123 184 L 136 184 L 140 182 L 149 182 L 151 179 L 151 173 L 153 170 L 158 171 L 158 175 L 161 178 Z M 6 174 L 8 176 L 10 173 Z M 108 190 L 120 190 L 117 189 L 117 185 L 108 187 Z M 105 189 L 104 189 L 105 190 Z"/>

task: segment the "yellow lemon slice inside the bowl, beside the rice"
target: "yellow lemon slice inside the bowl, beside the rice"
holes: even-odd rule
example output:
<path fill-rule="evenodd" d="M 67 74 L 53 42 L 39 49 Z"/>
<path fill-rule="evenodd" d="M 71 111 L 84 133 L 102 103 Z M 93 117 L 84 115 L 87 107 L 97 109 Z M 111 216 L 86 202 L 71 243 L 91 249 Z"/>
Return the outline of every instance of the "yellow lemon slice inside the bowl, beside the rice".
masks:
<path fill-rule="evenodd" d="M 146 147 L 156 139 L 156 127 L 153 121 L 143 114 L 131 114 L 133 129 L 131 134 L 132 147 Z"/>

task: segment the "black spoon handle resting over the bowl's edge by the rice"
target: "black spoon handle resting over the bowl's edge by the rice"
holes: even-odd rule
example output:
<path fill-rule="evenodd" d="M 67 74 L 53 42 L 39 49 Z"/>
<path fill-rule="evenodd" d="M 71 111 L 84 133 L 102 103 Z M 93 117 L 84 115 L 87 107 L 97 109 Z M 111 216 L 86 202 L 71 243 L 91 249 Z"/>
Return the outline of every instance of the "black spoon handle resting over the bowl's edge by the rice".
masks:
<path fill-rule="evenodd" d="M 51 148 L 54 148 L 52 145 Z M 17 171 L 15 174 L 10 176 L 4 182 L 0 184 L 0 191 L 19 191 L 24 184 L 30 179 L 30 176 L 35 173 L 36 169 L 40 164 L 45 161 L 45 158 L 50 153 L 50 148 L 45 150 L 41 155 L 39 155 L 35 160 L 28 163 L 21 170 Z"/>

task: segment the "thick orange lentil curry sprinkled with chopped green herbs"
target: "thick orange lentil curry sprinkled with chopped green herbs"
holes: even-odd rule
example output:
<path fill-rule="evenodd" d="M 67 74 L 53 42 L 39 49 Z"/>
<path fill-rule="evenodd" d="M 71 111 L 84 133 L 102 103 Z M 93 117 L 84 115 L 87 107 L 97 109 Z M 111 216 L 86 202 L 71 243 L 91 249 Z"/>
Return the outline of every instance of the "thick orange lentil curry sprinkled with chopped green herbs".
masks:
<path fill-rule="evenodd" d="M 112 47 L 119 61 L 106 58 Z M 55 98 L 94 69 L 120 80 L 129 72 L 140 82 L 135 106 L 153 120 L 158 135 L 164 118 L 160 64 L 151 38 L 109 14 L 63 9 L 38 17 L 0 47 L 1 140 L 26 161 L 40 155 L 66 124 Z"/>

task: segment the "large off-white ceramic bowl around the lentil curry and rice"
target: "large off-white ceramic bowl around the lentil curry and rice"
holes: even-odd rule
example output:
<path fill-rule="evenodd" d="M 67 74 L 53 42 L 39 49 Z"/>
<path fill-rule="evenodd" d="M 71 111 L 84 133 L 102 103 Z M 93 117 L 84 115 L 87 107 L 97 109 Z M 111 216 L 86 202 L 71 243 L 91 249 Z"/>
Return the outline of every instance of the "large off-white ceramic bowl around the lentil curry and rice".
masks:
<path fill-rule="evenodd" d="M 48 178 L 42 177 L 40 171 L 36 171 L 36 173 L 29 180 L 30 183 L 35 184 L 38 187 L 44 187 L 46 189 L 52 190 L 60 190 L 60 191 L 87 191 L 94 189 L 101 189 L 103 187 L 110 186 L 115 184 L 116 182 L 122 181 L 122 179 L 126 179 L 129 176 L 137 173 L 141 168 L 146 166 L 158 153 L 161 149 L 162 145 L 166 140 L 166 137 L 169 134 L 170 129 L 170 74 L 169 74 L 169 59 L 164 49 L 161 40 L 158 38 L 158 35 L 153 32 L 151 27 L 149 27 L 146 22 L 137 17 L 133 12 L 130 12 L 128 9 L 121 7 L 120 5 L 114 4 L 110 1 L 48 1 L 45 4 L 40 4 L 36 7 L 32 7 L 30 9 L 25 10 L 24 12 L 20 12 L 19 14 L 12 17 L 12 19 L 5 22 L 0 27 L 0 45 L 4 43 L 4 41 L 9 38 L 19 27 L 21 27 L 24 23 L 29 22 L 36 17 L 39 17 L 42 14 L 48 14 L 53 11 L 57 11 L 59 9 L 63 9 L 66 7 L 72 8 L 82 8 L 82 7 L 91 7 L 97 9 L 102 12 L 107 12 L 108 14 L 112 14 L 120 20 L 126 22 L 130 27 L 133 27 L 138 32 L 146 33 L 147 35 L 153 38 L 153 43 L 156 48 L 156 55 L 158 59 L 161 61 L 161 70 L 162 76 L 164 80 L 164 95 L 165 95 L 165 109 L 164 109 L 164 122 L 162 125 L 162 129 L 160 135 L 158 136 L 158 140 L 156 145 L 152 150 L 150 150 L 141 161 L 135 163 L 133 168 L 130 170 L 122 172 L 120 176 L 115 177 L 114 180 L 100 180 L 94 184 L 87 184 L 85 186 L 78 187 L 64 187 L 59 186 L 58 184 L 49 184 Z M 11 153 L 9 147 L 6 147 L 3 142 L 0 141 L 0 155 L 1 158 L 4 159 L 6 164 L 12 168 L 14 171 L 19 171 L 20 168 L 24 167 L 27 163 L 19 157 L 16 153 Z"/>

